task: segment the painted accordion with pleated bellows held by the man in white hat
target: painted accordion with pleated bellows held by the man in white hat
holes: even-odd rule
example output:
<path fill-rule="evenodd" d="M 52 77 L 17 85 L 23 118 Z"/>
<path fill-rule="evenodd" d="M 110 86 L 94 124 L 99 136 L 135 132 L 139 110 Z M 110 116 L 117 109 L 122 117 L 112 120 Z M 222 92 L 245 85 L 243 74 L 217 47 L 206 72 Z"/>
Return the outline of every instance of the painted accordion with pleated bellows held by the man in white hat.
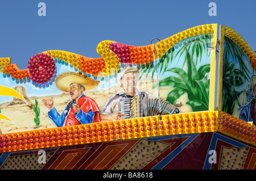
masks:
<path fill-rule="evenodd" d="M 180 113 L 177 107 L 163 98 L 159 99 L 143 92 L 133 98 L 119 100 L 119 111 L 126 115 L 123 116 L 124 119 Z"/>

